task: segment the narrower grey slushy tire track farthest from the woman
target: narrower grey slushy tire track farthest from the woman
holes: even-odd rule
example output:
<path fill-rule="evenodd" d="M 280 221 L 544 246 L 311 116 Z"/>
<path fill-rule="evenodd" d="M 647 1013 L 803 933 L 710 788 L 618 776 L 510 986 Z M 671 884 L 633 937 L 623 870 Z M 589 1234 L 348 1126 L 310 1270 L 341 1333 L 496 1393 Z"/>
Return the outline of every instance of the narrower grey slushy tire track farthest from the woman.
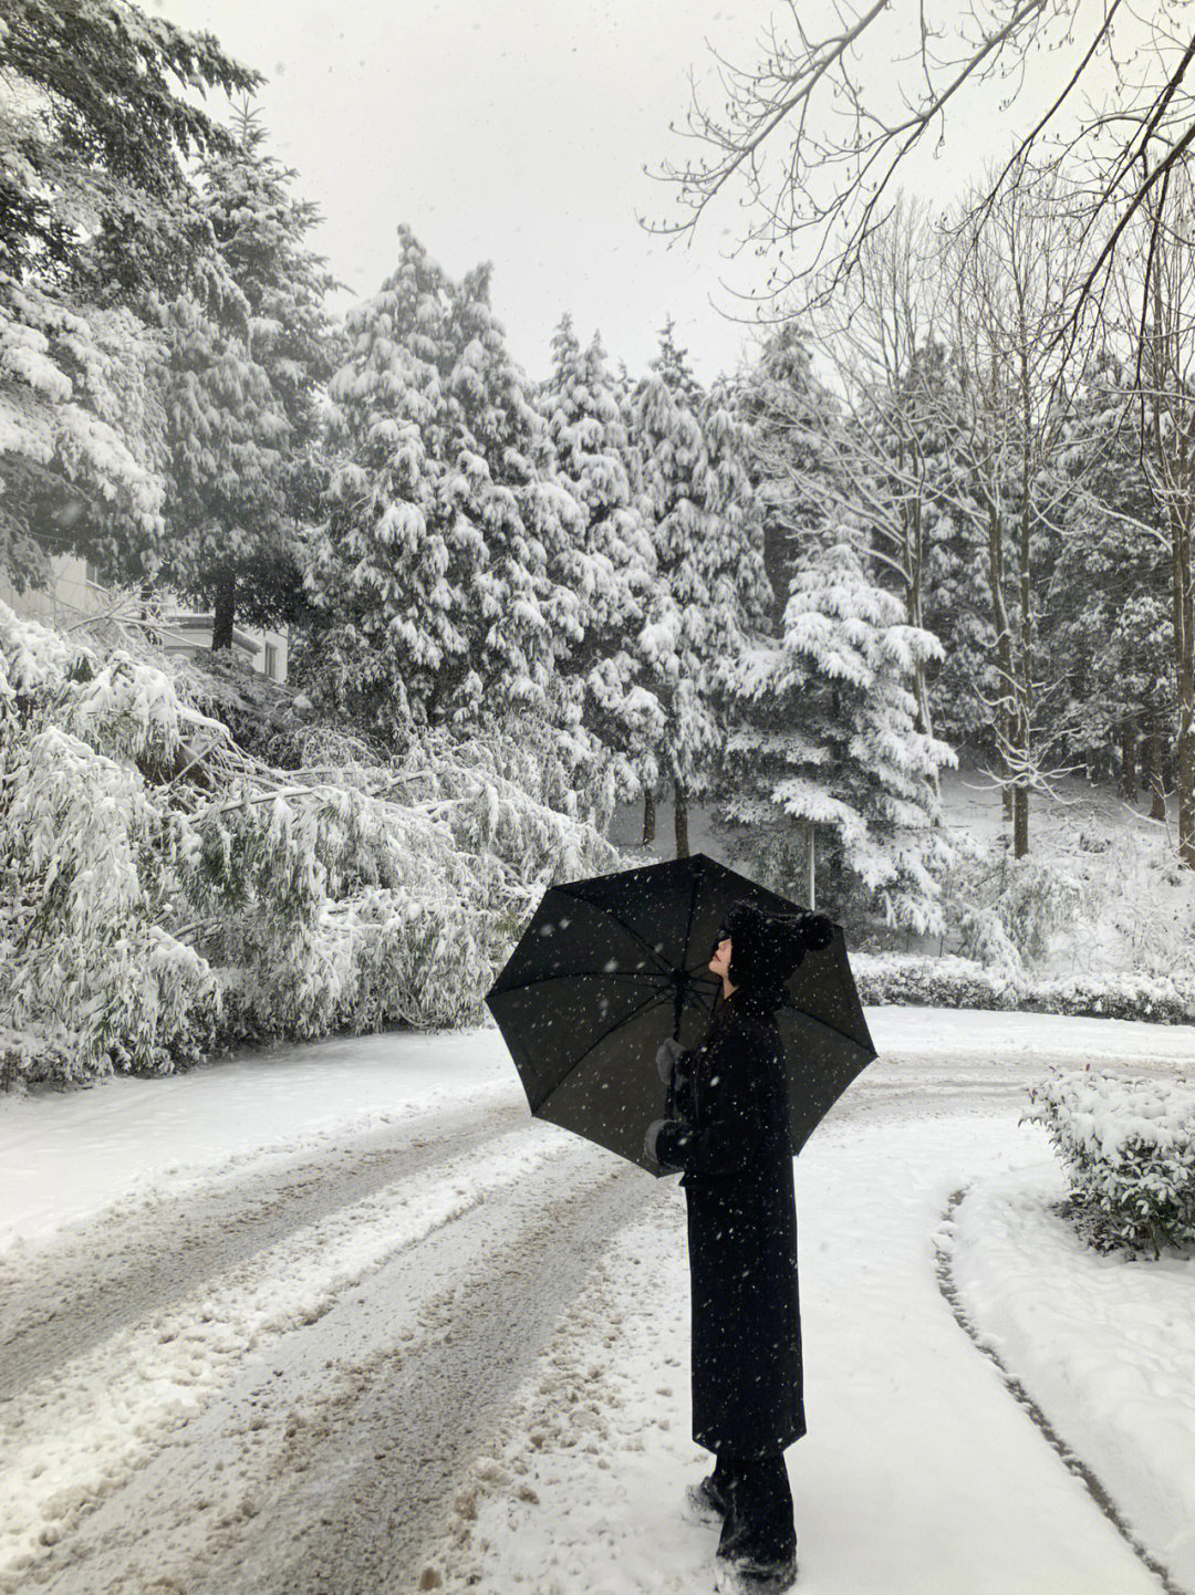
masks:
<path fill-rule="evenodd" d="M 278 1168 L 118 1203 L 32 1258 L 0 1260 L 0 1404 L 287 1236 L 528 1123 L 523 1105 L 389 1124 Z"/>

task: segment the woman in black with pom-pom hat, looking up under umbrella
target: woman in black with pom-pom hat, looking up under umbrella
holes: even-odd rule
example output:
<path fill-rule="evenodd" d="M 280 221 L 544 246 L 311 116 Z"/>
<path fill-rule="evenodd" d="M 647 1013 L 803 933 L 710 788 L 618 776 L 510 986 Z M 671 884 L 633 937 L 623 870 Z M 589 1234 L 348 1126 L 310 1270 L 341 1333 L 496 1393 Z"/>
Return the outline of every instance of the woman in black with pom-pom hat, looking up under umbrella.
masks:
<path fill-rule="evenodd" d="M 787 1129 L 780 983 L 830 920 L 731 909 L 710 970 L 723 981 L 696 1053 L 665 1042 L 665 1118 L 645 1150 L 683 1169 L 692 1295 L 692 1437 L 716 1456 L 689 1491 L 723 1520 L 723 1584 L 785 1590 L 796 1577 L 793 1496 L 783 1451 L 806 1432 L 796 1204 Z"/>

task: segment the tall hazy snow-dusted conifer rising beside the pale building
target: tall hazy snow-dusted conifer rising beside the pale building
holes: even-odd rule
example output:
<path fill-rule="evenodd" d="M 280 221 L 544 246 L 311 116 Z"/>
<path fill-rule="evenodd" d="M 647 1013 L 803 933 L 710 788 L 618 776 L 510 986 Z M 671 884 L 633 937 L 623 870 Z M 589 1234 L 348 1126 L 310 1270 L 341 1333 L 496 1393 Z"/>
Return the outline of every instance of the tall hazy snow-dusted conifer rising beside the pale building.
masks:
<path fill-rule="evenodd" d="M 201 169 L 212 233 L 207 292 L 163 306 L 176 491 L 161 576 L 211 606 L 212 648 L 238 619 L 298 619 L 298 523 L 316 498 L 316 394 L 332 372 L 333 278 L 306 242 L 316 207 L 263 148 L 244 104 L 236 144 Z"/>

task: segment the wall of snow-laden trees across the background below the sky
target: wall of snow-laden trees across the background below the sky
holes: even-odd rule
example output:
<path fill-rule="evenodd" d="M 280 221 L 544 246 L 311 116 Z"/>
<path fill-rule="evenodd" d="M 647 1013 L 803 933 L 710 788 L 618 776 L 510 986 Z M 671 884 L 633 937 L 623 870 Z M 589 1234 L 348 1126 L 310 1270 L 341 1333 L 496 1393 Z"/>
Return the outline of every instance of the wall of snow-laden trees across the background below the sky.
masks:
<path fill-rule="evenodd" d="M 983 228 L 895 206 L 839 293 L 708 389 L 670 321 L 635 378 L 570 316 L 533 381 L 491 266 L 452 281 L 405 226 L 378 292 L 327 313 L 260 77 L 211 37 L 124 0 L 16 0 L 3 29 L 18 585 L 85 552 L 209 608 L 217 649 L 287 625 L 297 679 L 373 746 L 520 727 L 562 810 L 579 785 L 641 802 L 653 841 L 667 790 L 686 852 L 700 798 L 761 877 L 873 922 L 941 931 L 964 742 L 1016 857 L 1029 794 L 1087 767 L 1155 813 L 1177 786 L 1195 864 L 1182 163 L 1094 341 L 1066 333 L 1098 241 L 1026 161 Z"/>

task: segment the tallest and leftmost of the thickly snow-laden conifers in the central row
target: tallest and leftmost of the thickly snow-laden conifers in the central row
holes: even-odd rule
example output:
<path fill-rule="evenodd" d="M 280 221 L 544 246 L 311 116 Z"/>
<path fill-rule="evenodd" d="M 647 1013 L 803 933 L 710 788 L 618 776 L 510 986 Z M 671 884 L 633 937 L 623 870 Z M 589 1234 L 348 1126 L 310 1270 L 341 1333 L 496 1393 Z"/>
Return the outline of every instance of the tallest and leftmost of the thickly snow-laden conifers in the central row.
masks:
<path fill-rule="evenodd" d="M 467 681 L 469 589 L 485 550 L 444 485 L 450 282 L 407 226 L 399 247 L 396 271 L 345 321 L 327 518 L 306 584 L 321 617 L 308 660 L 317 695 L 400 742 Z"/>

